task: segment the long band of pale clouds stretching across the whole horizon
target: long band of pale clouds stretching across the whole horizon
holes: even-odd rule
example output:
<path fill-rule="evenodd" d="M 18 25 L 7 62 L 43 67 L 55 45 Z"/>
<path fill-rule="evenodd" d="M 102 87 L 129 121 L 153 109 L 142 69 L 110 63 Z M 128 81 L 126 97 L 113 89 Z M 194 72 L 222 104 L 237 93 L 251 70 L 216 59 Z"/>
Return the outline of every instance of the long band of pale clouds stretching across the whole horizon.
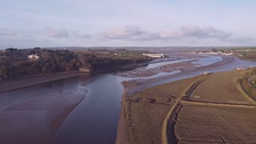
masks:
<path fill-rule="evenodd" d="M 181 26 L 147 30 L 142 26 L 119 26 L 100 33 L 84 33 L 47 27 L 44 33 L 0 29 L 0 46 L 252 46 L 254 37 L 241 37 L 214 26 Z M 8 33 L 7 33 L 8 32 Z M 3 35 L 5 34 L 5 35 Z M 16 34 L 14 36 L 6 36 Z M 58 38 L 58 41 L 56 41 Z M 8 43 L 12 45 L 8 46 Z M 20 45 L 20 46 L 19 46 Z"/>

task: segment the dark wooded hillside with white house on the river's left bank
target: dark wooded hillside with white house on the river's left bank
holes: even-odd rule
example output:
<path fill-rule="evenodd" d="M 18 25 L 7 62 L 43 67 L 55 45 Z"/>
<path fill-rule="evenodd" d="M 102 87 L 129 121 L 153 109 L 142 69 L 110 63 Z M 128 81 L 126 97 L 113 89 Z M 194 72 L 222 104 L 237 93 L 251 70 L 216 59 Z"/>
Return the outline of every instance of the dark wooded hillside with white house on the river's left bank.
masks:
<path fill-rule="evenodd" d="M 39 58 L 28 58 L 36 54 Z M 17 78 L 35 74 L 54 74 L 87 68 L 91 73 L 130 64 L 146 62 L 149 58 L 116 57 L 114 55 L 73 52 L 70 50 L 48 50 L 9 48 L 0 51 L 0 76 Z"/>

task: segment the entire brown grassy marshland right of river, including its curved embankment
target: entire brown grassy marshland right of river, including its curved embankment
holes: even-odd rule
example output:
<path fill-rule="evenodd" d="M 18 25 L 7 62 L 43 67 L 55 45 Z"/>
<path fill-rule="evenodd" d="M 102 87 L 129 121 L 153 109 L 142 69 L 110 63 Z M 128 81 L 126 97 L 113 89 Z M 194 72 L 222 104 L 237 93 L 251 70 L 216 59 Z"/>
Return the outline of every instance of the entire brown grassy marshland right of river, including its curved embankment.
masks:
<path fill-rule="evenodd" d="M 256 142 L 256 102 L 240 85 L 246 71 L 200 75 L 124 96 L 117 143 Z"/>

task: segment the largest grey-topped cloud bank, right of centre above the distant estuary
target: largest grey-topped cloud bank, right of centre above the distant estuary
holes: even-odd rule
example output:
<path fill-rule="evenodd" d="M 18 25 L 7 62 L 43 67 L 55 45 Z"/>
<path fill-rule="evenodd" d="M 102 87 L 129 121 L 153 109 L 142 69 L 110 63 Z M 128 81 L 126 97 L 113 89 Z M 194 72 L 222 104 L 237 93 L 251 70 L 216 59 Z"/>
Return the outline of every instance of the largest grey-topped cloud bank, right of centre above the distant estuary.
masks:
<path fill-rule="evenodd" d="M 217 28 L 214 28 L 214 26 L 181 26 L 178 30 L 155 32 L 144 30 L 139 26 L 122 26 L 101 34 L 102 38 L 105 39 L 122 39 L 126 41 L 182 40 L 186 38 L 213 38 L 225 40 L 226 38 L 230 38 L 232 35 L 232 33 L 218 30 Z"/>

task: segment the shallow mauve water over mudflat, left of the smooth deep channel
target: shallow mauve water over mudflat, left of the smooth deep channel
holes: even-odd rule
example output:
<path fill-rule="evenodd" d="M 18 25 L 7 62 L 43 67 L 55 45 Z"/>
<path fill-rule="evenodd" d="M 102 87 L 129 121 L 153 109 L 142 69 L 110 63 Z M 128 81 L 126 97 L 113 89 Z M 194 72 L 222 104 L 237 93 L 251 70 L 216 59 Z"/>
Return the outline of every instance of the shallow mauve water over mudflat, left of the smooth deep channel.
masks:
<path fill-rule="evenodd" d="M 80 80 L 66 78 L 0 94 L 0 142 L 52 141 L 66 110 L 85 97 Z"/>

